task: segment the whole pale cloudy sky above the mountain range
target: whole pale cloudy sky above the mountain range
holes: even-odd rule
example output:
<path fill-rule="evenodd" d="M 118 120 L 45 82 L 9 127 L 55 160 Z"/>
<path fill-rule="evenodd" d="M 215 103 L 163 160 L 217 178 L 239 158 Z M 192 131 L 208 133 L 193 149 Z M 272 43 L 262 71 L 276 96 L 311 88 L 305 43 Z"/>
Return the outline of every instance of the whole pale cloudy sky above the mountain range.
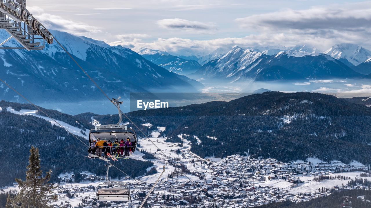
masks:
<path fill-rule="evenodd" d="M 371 49 L 371 1 L 28 0 L 27 8 L 53 29 L 182 55 L 234 45 Z"/>

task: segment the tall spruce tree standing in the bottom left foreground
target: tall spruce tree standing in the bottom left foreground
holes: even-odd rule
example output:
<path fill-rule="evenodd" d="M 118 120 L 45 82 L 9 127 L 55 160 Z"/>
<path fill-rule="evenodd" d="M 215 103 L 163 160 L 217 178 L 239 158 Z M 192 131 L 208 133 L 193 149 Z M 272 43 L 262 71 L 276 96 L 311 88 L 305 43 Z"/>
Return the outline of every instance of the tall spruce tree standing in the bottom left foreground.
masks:
<path fill-rule="evenodd" d="M 39 148 L 31 147 L 29 165 L 26 171 L 26 181 L 17 178 L 19 193 L 12 200 L 14 208 L 50 208 L 49 202 L 58 200 L 53 192 L 53 185 L 49 184 L 52 171 L 42 177 L 40 170 Z"/>

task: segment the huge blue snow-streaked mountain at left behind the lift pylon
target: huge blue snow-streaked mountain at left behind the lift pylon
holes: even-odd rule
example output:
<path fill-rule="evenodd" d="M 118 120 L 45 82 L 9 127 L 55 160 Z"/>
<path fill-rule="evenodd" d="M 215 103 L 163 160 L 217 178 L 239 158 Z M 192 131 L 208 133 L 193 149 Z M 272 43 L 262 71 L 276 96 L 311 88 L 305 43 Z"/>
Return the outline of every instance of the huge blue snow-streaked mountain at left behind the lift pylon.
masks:
<path fill-rule="evenodd" d="M 95 79 L 109 96 L 128 96 L 129 92 L 197 91 L 193 81 L 171 73 L 121 46 L 53 30 L 53 36 Z M 9 34 L 0 30 L 0 40 Z M 16 47 L 14 40 L 6 46 Z M 103 100 L 95 85 L 54 41 L 44 50 L 0 50 L 0 76 L 14 88 L 38 101 Z M 17 96 L 0 85 L 1 99 L 17 101 Z M 32 93 L 30 93 L 32 92 Z M 21 101 L 21 100 L 20 100 Z"/>

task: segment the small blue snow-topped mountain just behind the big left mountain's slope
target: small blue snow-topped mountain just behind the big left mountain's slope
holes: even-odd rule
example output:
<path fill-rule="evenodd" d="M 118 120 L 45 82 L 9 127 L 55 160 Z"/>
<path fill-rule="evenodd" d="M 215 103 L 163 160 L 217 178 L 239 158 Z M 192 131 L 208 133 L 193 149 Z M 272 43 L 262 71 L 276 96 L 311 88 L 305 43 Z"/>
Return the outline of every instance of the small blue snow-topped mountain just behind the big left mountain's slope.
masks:
<path fill-rule="evenodd" d="M 137 52 L 152 63 L 164 67 L 176 74 L 191 74 L 201 68 L 201 65 L 197 61 L 179 58 L 177 56 L 170 55 L 165 51 L 152 50 L 150 48 L 140 48 Z"/>

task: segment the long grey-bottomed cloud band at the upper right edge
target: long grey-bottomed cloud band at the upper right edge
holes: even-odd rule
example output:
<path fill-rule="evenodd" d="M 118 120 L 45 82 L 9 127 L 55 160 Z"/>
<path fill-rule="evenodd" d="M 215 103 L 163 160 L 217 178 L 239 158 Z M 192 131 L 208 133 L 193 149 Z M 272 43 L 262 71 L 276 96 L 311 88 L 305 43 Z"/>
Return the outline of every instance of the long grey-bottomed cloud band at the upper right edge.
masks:
<path fill-rule="evenodd" d="M 243 27 L 260 30 L 365 30 L 370 25 L 371 4 L 349 9 L 313 7 L 307 10 L 283 10 L 236 19 Z M 304 31 L 308 32 L 308 31 Z"/>

